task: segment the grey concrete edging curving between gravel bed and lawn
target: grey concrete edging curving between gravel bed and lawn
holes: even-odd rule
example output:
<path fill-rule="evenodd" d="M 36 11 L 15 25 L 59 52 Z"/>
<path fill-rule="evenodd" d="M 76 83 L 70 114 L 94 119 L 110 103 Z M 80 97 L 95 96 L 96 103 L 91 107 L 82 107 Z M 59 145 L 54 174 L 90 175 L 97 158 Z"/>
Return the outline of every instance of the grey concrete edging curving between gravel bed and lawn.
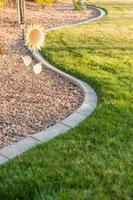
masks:
<path fill-rule="evenodd" d="M 46 32 L 90 23 L 106 15 L 106 12 L 101 8 L 97 8 L 94 6 L 87 6 L 87 7 L 97 9 L 100 13 L 99 16 L 73 25 L 50 28 L 47 29 Z M 58 122 L 54 126 L 47 128 L 44 131 L 41 131 L 37 134 L 27 136 L 26 138 L 15 144 L 0 149 L 0 165 L 20 155 L 21 153 L 27 151 L 28 149 L 36 146 L 37 144 L 41 144 L 42 142 L 47 142 L 48 140 L 51 140 L 54 137 L 67 132 L 71 128 L 74 128 L 84 119 L 86 119 L 97 106 L 97 95 L 95 91 L 87 83 L 55 68 L 48 61 L 46 61 L 38 51 L 31 53 L 33 57 L 41 61 L 45 65 L 45 67 L 51 69 L 52 71 L 58 73 L 61 76 L 64 76 L 65 78 L 68 78 L 71 82 L 78 85 L 84 93 L 84 100 L 81 106 L 77 110 L 75 110 L 72 114 L 70 114 L 68 117 Z"/>

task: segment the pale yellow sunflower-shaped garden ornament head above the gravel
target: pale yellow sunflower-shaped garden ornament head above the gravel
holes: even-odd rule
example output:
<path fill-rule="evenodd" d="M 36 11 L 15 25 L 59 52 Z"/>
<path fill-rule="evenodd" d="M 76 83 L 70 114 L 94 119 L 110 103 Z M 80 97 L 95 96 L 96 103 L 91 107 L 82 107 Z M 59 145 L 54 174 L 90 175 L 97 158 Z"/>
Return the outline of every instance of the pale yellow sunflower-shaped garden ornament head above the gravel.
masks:
<path fill-rule="evenodd" d="M 25 32 L 25 42 L 29 49 L 41 49 L 45 41 L 45 31 L 41 24 L 32 24 Z"/>

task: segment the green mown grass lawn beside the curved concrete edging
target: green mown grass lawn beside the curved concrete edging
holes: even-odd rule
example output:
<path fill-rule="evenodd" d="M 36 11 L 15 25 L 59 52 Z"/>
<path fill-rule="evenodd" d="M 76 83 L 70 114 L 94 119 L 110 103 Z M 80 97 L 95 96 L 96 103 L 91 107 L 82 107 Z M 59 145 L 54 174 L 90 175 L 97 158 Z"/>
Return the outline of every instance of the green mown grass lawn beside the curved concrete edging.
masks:
<path fill-rule="evenodd" d="M 133 1 L 90 2 L 108 16 L 49 33 L 42 53 L 89 83 L 98 107 L 68 134 L 2 166 L 1 200 L 133 199 Z"/>

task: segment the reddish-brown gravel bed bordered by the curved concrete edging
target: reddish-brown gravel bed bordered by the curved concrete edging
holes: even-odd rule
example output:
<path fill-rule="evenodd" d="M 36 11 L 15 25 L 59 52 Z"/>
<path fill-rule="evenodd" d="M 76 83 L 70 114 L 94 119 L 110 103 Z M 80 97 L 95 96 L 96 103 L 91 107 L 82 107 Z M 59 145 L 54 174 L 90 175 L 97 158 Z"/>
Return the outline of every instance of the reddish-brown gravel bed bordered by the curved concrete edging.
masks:
<path fill-rule="evenodd" d="M 50 7 L 27 3 L 27 21 L 45 28 L 73 24 L 98 15 L 95 9 L 77 12 L 71 3 Z M 0 13 L 0 148 L 46 129 L 71 114 L 82 103 L 80 88 L 43 68 L 35 75 L 23 64 L 28 55 L 21 40 L 16 8 Z M 34 61 L 35 62 L 35 61 Z"/>

